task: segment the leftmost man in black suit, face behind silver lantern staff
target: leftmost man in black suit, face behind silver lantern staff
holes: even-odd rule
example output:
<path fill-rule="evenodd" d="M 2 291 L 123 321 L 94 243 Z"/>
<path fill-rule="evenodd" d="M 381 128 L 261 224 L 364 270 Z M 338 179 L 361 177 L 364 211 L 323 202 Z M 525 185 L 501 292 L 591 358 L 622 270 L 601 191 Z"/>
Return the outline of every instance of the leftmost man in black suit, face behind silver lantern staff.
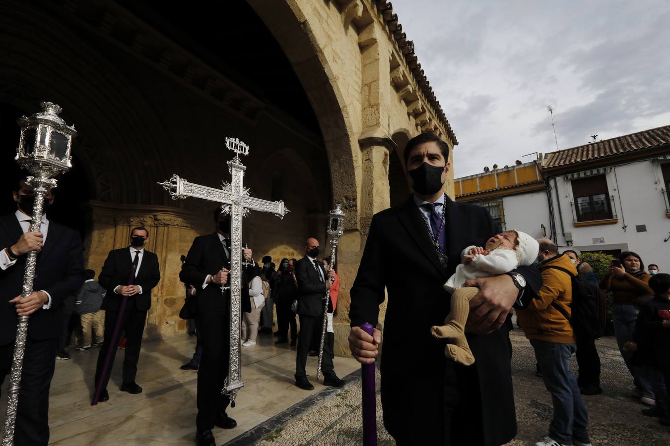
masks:
<path fill-rule="evenodd" d="M 0 218 L 0 385 L 11 370 L 17 316 L 30 316 L 23 356 L 15 445 L 49 442 L 49 388 L 54 376 L 62 302 L 84 284 L 80 235 L 42 217 L 40 233 L 29 232 L 33 188 L 20 181 L 14 191 L 18 210 Z M 44 209 L 53 203 L 49 193 Z M 32 294 L 21 299 L 26 254 L 39 251 Z"/>

